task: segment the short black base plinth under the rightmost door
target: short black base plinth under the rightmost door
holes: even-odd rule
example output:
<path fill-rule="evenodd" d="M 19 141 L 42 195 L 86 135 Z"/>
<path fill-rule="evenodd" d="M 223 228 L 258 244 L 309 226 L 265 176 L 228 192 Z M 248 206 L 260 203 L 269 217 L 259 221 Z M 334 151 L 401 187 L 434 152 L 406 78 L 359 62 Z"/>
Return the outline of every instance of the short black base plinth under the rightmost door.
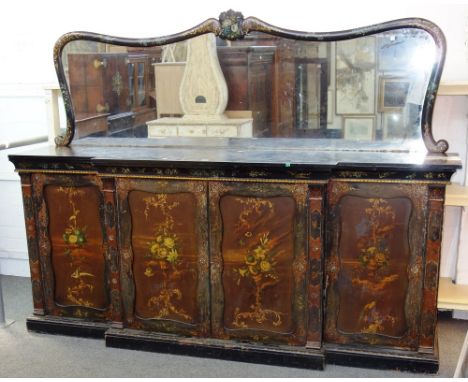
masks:
<path fill-rule="evenodd" d="M 410 351 L 357 348 L 344 345 L 325 345 L 325 362 L 335 365 L 372 369 L 393 369 L 414 373 L 437 373 L 439 358 L 436 354 Z"/>

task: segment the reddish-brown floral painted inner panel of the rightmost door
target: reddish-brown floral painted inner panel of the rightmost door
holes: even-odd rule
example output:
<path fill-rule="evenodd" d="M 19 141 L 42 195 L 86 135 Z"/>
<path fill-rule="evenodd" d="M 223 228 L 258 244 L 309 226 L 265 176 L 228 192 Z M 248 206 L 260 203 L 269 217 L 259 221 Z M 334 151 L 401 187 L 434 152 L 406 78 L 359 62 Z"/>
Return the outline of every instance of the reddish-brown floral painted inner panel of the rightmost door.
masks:
<path fill-rule="evenodd" d="M 408 288 L 407 198 L 341 200 L 340 301 L 354 300 L 338 314 L 338 330 L 401 337 L 407 329 L 404 300 Z M 340 305 L 341 306 L 341 305 Z"/>

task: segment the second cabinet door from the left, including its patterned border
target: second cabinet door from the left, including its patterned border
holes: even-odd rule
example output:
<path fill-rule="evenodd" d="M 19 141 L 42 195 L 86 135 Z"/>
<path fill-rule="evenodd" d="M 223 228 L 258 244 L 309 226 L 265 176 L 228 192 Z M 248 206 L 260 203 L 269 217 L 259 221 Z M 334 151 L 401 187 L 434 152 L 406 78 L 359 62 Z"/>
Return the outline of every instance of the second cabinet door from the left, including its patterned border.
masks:
<path fill-rule="evenodd" d="M 206 183 L 117 181 L 124 324 L 209 332 Z"/>

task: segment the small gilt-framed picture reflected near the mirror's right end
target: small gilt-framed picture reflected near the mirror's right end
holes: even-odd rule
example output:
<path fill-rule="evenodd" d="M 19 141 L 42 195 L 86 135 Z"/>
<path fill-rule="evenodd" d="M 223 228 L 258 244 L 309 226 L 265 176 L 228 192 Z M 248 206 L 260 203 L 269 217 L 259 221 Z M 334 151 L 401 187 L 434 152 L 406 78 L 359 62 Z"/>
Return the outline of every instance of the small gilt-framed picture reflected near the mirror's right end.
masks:
<path fill-rule="evenodd" d="M 405 77 L 380 77 L 379 111 L 401 111 L 406 105 L 406 98 L 411 81 Z"/>

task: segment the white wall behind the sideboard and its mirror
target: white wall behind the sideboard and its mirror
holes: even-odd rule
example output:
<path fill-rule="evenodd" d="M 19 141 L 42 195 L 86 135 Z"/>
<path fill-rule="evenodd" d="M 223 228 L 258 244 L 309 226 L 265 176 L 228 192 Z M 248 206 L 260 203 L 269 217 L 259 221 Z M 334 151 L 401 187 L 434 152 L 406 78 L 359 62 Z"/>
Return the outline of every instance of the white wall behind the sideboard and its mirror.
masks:
<path fill-rule="evenodd" d="M 16 0 L 2 4 L 0 36 L 0 142 L 47 134 L 44 85 L 56 82 L 52 49 L 57 38 L 73 30 L 127 37 L 177 33 L 235 7 L 284 28 L 306 31 L 349 29 L 402 17 L 434 21 L 444 31 L 448 50 L 444 81 L 468 81 L 468 5 L 428 1 L 294 1 L 226 0 L 180 2 L 140 0 L 67 3 Z M 318 4 L 320 4 L 318 6 Z M 451 151 L 466 150 L 467 97 L 440 98 L 436 107 L 436 137 L 449 136 Z M 465 137 L 465 138 L 461 138 Z M 0 152 L 0 272 L 28 275 L 18 177 Z M 466 163 L 466 161 L 465 161 Z M 457 179 L 462 179 L 462 173 Z M 443 273 L 453 272 L 454 234 L 458 212 L 448 212 Z M 468 259 L 460 269 L 468 272 Z M 468 274 L 460 280 L 468 283 Z"/>

